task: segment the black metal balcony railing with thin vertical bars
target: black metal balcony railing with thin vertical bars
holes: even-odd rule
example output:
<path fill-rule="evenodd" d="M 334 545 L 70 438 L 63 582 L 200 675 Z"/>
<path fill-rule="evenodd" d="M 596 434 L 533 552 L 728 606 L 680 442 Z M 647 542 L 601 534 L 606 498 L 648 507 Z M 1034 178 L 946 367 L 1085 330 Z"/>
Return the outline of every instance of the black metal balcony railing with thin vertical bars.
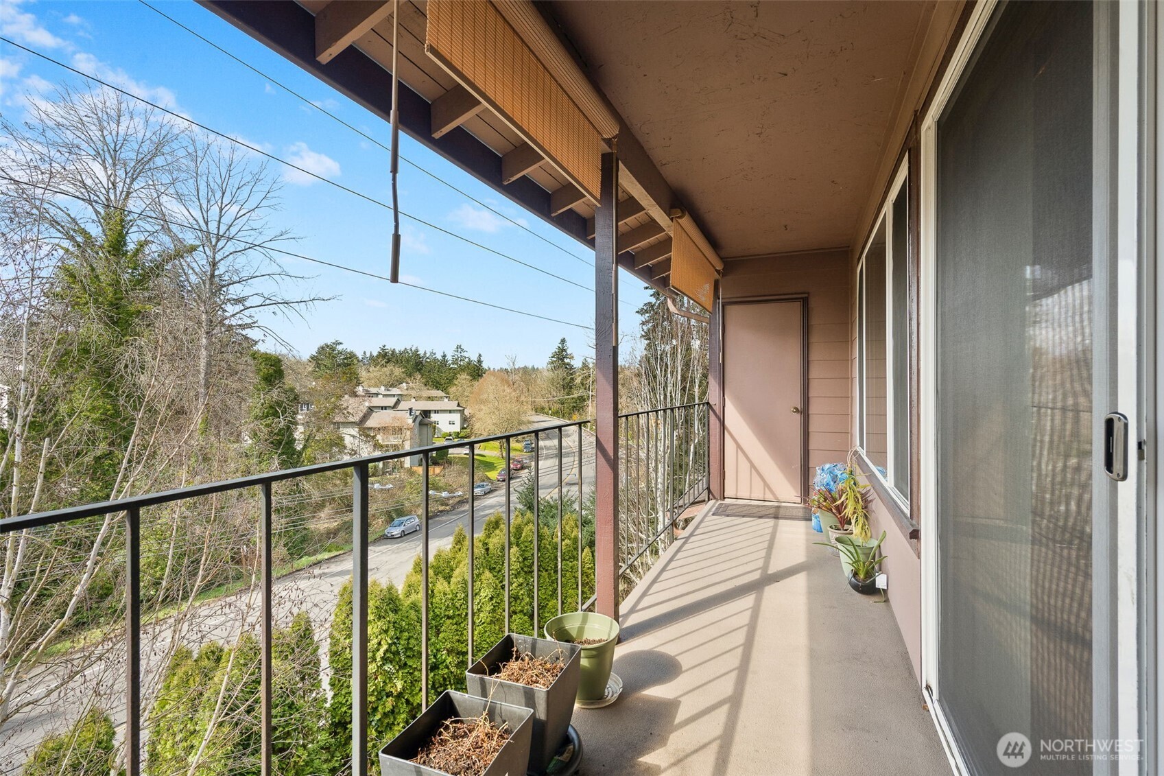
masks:
<path fill-rule="evenodd" d="M 708 491 L 708 430 L 709 408 L 707 403 L 687 404 L 683 407 L 662 408 L 641 412 L 630 412 L 620 416 L 619 460 L 622 466 L 620 482 L 623 509 L 620 516 L 620 567 L 619 578 L 637 580 L 650 563 L 669 543 L 669 532 L 676 518 L 691 502 Z M 262 774 L 272 773 L 272 634 L 274 601 L 272 591 L 276 578 L 276 562 L 272 552 L 275 535 L 275 503 L 272 489 L 276 484 L 299 480 L 312 475 L 350 471 L 352 473 L 352 773 L 367 773 L 368 755 L 368 592 L 369 592 L 369 544 L 371 541 L 369 527 L 369 482 L 372 467 L 391 461 L 407 459 L 420 460 L 420 687 L 421 704 L 430 700 L 430 468 L 434 457 L 443 451 L 468 447 L 468 512 L 464 517 L 466 532 L 469 536 L 468 553 L 468 662 L 473 663 L 477 654 L 474 644 L 474 544 L 477 524 L 476 502 L 473 485 L 476 480 L 476 452 L 485 443 L 498 443 L 503 450 L 504 466 L 511 471 L 511 446 L 517 439 L 532 439 L 533 478 L 533 522 L 541 525 L 545 509 L 555 509 L 551 517 L 556 523 L 556 611 L 562 612 L 563 586 L 575 585 L 576 598 L 582 601 L 583 594 L 583 505 L 584 493 L 583 451 L 589 452 L 588 460 L 592 466 L 594 445 L 587 444 L 590 437 L 585 426 L 590 421 L 575 421 L 544 425 L 514 433 L 482 437 L 470 440 L 431 445 L 426 447 L 377 453 L 362 458 L 317 464 L 299 468 L 256 474 L 220 482 L 196 485 L 161 493 L 105 501 L 80 507 L 57 509 L 0 520 L 0 535 L 14 531 L 43 530 L 45 527 L 73 523 L 92 517 L 105 517 L 123 514 L 125 531 L 125 726 L 123 760 L 126 776 L 137 776 L 142 771 L 142 514 L 151 507 L 186 502 L 192 499 L 215 496 L 232 492 L 253 492 L 260 496 L 260 515 L 257 520 L 257 566 L 255 584 L 261 597 L 261 720 L 262 733 L 260 766 Z M 570 439 L 573 437 L 573 439 Z M 551 482 L 556 481 L 553 493 L 541 496 L 541 482 L 545 463 L 542 451 L 546 442 L 555 449 L 549 465 Z M 577 456 L 577 515 L 579 530 L 576 546 L 567 548 L 562 539 L 563 505 L 566 503 L 567 482 L 563 477 L 563 443 L 575 443 Z M 573 491 L 573 488 L 570 488 Z M 511 536 L 510 524 L 513 517 L 513 478 L 505 481 L 505 629 L 511 627 Z M 554 495 L 556 494 L 556 495 Z M 569 499 L 574 498 L 572 493 Z M 533 579 L 539 579 L 539 531 L 533 531 Z M 566 552 L 576 552 L 576 579 L 563 579 L 563 557 Z M 598 572 L 601 573 L 601 572 Z M 540 622 L 540 584 L 533 584 L 533 630 L 538 633 Z M 583 605 L 590 608 L 595 597 Z M 481 650 L 483 651 L 483 650 Z"/>

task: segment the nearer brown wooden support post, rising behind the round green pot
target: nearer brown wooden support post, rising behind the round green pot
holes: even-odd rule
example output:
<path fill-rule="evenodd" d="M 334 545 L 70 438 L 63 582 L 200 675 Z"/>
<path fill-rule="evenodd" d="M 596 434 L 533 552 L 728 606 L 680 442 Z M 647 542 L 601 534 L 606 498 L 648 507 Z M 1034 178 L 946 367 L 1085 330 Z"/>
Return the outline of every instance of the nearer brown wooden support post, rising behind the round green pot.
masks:
<path fill-rule="evenodd" d="M 618 619 L 618 155 L 602 155 L 595 211 L 595 584 L 597 611 Z"/>

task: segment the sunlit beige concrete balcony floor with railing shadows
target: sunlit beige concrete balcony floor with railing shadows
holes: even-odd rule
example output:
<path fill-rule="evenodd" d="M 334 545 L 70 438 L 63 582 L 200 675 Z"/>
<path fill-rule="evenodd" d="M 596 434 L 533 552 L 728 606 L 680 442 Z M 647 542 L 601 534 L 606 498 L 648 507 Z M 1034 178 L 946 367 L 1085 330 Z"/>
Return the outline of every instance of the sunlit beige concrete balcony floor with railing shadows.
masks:
<path fill-rule="evenodd" d="M 659 559 L 623 605 L 623 696 L 575 711 L 582 774 L 950 773 L 889 605 L 803 514 L 712 505 Z"/>

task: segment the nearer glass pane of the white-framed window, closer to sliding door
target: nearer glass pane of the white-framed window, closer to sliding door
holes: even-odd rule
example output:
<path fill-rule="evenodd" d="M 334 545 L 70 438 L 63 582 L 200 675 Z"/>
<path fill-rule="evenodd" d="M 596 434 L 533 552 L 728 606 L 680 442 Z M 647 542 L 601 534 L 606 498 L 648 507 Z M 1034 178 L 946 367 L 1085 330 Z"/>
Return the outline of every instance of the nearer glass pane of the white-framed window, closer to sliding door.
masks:
<path fill-rule="evenodd" d="M 906 190 L 902 185 L 893 200 L 893 241 L 890 258 L 893 276 L 889 278 L 893 319 L 893 487 L 909 498 L 909 239 Z"/>

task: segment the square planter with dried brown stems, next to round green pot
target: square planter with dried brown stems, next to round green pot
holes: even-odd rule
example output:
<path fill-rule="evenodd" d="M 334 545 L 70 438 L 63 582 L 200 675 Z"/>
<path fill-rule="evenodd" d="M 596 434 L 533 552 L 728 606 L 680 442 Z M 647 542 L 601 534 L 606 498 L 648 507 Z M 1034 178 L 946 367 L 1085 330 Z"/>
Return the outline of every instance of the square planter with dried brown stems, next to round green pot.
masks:
<path fill-rule="evenodd" d="M 582 647 L 509 634 L 464 673 L 471 696 L 533 710 L 528 770 L 544 773 L 566 740 Z"/>

